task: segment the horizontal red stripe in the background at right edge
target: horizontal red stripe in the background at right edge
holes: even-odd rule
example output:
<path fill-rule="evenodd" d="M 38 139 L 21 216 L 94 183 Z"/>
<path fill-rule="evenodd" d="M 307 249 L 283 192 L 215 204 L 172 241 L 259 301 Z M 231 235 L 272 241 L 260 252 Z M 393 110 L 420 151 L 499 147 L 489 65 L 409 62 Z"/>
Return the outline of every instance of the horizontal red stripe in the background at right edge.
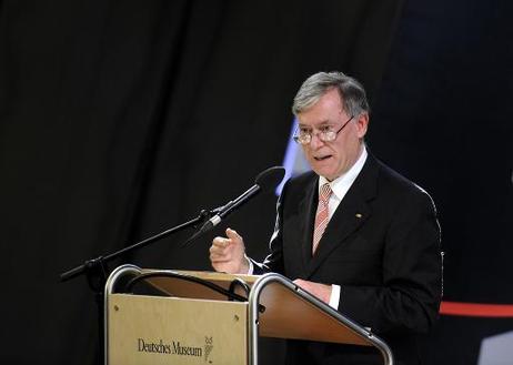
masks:
<path fill-rule="evenodd" d="M 513 305 L 442 302 L 440 314 L 469 317 L 513 317 Z"/>

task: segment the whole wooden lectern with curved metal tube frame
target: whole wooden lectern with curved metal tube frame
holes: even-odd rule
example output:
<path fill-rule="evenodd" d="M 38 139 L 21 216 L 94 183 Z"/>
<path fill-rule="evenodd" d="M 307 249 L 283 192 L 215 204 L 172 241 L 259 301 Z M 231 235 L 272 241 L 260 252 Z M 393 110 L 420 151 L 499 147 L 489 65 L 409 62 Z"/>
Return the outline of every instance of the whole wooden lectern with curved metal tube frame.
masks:
<path fill-rule="evenodd" d="M 390 347 L 286 277 L 122 265 L 105 285 L 105 364 L 258 365 L 259 336 Z"/>

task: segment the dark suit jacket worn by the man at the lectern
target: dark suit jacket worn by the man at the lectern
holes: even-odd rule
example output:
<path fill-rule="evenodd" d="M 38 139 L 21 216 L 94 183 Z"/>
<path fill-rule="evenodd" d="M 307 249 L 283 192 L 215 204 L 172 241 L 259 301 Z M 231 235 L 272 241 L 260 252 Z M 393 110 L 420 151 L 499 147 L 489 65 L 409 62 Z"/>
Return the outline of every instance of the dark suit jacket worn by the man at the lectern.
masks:
<path fill-rule="evenodd" d="M 330 220 L 312 257 L 319 176 L 288 181 L 271 253 L 260 271 L 341 286 L 339 311 L 371 327 L 396 364 L 419 364 L 418 334 L 437 318 L 440 226 L 430 195 L 371 154 Z M 366 348 L 290 342 L 290 364 L 382 364 Z"/>

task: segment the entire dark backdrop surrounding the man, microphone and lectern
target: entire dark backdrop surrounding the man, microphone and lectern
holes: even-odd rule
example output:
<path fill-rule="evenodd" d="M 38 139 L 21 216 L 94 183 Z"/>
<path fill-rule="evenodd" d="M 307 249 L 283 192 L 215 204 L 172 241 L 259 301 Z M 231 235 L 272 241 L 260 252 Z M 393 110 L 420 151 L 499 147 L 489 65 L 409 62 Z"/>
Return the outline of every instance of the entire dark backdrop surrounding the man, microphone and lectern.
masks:
<path fill-rule="evenodd" d="M 0 1 L 2 364 L 91 364 L 93 296 L 59 274 L 225 203 L 282 163 L 301 82 L 369 90 L 372 152 L 436 202 L 444 300 L 513 303 L 511 1 Z M 228 224 L 265 255 L 275 196 Z M 210 270 L 187 232 L 117 264 Z M 512 318 L 442 316 L 426 364 Z"/>

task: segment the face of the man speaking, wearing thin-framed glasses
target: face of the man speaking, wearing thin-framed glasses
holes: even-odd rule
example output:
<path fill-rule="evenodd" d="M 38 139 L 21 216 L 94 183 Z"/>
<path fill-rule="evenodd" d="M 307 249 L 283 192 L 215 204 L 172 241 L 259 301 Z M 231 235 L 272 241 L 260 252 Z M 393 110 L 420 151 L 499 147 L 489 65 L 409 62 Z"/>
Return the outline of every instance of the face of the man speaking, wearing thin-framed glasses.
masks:
<path fill-rule="evenodd" d="M 328 91 L 315 104 L 298 114 L 300 130 L 312 133 L 312 141 L 302 145 L 304 155 L 312 170 L 329 181 L 351 169 L 362 151 L 369 115 L 353 116 L 334 141 L 323 142 L 319 139 L 320 131 L 328 128 L 338 131 L 351 118 L 343 110 L 336 89 Z"/>

